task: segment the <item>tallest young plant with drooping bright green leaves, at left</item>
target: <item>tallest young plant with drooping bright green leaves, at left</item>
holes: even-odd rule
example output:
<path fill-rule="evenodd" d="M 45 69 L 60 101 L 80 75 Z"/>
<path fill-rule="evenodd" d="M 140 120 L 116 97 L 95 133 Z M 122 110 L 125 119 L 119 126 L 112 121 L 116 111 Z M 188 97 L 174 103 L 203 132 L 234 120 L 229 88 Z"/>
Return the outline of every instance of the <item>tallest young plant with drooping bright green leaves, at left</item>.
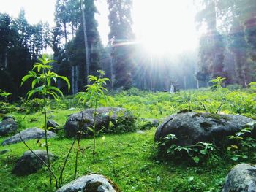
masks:
<path fill-rule="evenodd" d="M 48 171 L 49 171 L 49 180 L 51 185 L 51 171 L 50 171 L 50 158 L 49 158 L 49 145 L 47 137 L 47 112 L 46 112 L 46 99 L 48 96 L 53 96 L 54 99 L 58 99 L 59 95 L 63 96 L 63 93 L 59 88 L 53 85 L 53 82 L 57 82 L 57 79 L 62 79 L 64 82 L 67 82 L 68 90 L 70 89 L 70 83 L 67 77 L 60 76 L 54 72 L 51 72 L 52 66 L 50 63 L 55 62 L 46 58 L 45 55 L 42 55 L 42 58 L 38 59 L 39 62 L 34 64 L 33 69 L 29 71 L 29 74 L 22 78 L 21 85 L 27 80 L 32 80 L 31 90 L 27 93 L 28 99 L 31 96 L 41 96 L 43 99 L 43 113 L 44 113 L 44 129 L 45 129 L 45 148 L 47 153 L 48 161 Z"/>

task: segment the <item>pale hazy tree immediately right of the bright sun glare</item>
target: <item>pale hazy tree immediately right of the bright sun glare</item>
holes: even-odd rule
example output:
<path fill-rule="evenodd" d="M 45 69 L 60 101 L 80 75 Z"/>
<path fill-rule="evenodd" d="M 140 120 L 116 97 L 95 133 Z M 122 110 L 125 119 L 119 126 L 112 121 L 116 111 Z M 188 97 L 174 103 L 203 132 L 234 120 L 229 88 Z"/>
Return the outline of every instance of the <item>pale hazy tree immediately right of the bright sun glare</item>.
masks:
<path fill-rule="evenodd" d="M 200 38 L 200 62 L 198 80 L 210 80 L 217 76 L 224 77 L 224 43 L 222 34 L 217 31 L 217 5 L 215 0 L 203 1 L 204 7 L 197 13 L 200 24 L 206 22 L 207 32 Z"/>

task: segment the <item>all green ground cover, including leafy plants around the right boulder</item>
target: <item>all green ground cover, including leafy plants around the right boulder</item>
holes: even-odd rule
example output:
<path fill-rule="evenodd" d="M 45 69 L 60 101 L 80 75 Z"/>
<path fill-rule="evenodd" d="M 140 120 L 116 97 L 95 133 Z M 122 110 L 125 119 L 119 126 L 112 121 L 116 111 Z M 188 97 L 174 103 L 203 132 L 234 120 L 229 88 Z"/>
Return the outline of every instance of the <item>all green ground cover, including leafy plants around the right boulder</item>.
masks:
<path fill-rule="evenodd" d="M 228 92 L 225 89 L 222 89 L 222 91 Z M 168 139 L 172 141 L 170 145 L 167 142 L 168 147 L 161 146 L 162 149 L 165 149 L 168 158 L 167 161 L 161 161 L 159 154 L 157 154 L 157 146 L 154 145 L 155 128 L 151 128 L 151 125 L 147 125 L 140 118 L 157 118 L 161 122 L 165 117 L 187 109 L 189 106 L 188 100 L 190 100 L 190 107 L 194 111 L 202 112 L 203 107 L 200 105 L 202 99 L 206 104 L 208 102 L 212 103 L 212 110 L 215 111 L 219 104 L 218 93 L 207 88 L 199 91 L 192 90 L 189 93 L 180 91 L 174 94 L 151 93 L 148 91 L 128 92 L 112 93 L 115 100 L 108 101 L 108 106 L 129 109 L 130 112 L 139 117 L 136 120 L 138 127 L 145 123 L 144 129 L 146 130 L 124 134 L 116 133 L 116 130 L 122 133 L 124 132 L 122 130 L 127 128 L 127 126 L 121 126 L 120 129 L 113 129 L 115 134 L 104 134 L 104 137 L 96 137 L 96 163 L 92 161 L 91 157 L 93 139 L 81 139 L 78 151 L 78 175 L 91 172 L 108 175 L 118 183 L 122 191 L 221 191 L 230 167 L 238 162 L 252 164 L 256 162 L 255 141 L 249 139 L 250 136 L 247 135 L 249 134 L 247 131 L 250 130 L 248 128 L 252 128 L 254 125 L 248 125 L 244 131 L 239 131 L 240 134 L 233 135 L 233 137 L 243 137 L 244 139 L 231 139 L 231 137 L 227 139 L 228 145 L 225 149 L 216 148 L 211 143 L 178 146 L 176 145 L 178 140 L 174 138 L 175 136 L 169 135 Z M 252 93 L 253 91 L 245 89 L 229 93 L 222 107 L 222 112 L 233 114 L 239 111 L 241 115 L 253 116 L 256 112 L 256 103 Z M 61 127 L 70 114 L 80 111 L 78 108 L 81 106 L 81 103 L 78 103 L 78 98 L 72 96 L 59 100 L 47 100 L 47 103 L 49 104 L 48 115 L 56 120 Z M 207 105 L 207 107 L 210 106 L 210 104 Z M 69 107 L 76 107 L 76 109 L 67 110 Z M 86 101 L 84 107 L 89 107 L 89 101 Z M 25 118 L 22 113 L 18 112 L 12 112 L 10 115 L 20 120 L 20 130 L 34 126 L 40 127 L 44 122 L 42 112 L 27 114 Z M 216 114 L 214 117 L 218 118 L 219 115 Z M 118 125 L 119 120 L 111 122 L 110 128 L 114 128 L 115 123 Z M 131 128 L 135 128 L 135 126 Z M 92 127 L 91 129 L 93 130 Z M 61 166 L 63 160 L 67 158 L 67 151 L 75 140 L 67 139 L 61 133 L 58 133 L 58 135 L 59 137 L 56 139 L 50 139 L 50 152 L 59 157 L 51 164 L 51 169 L 54 172 L 59 172 L 63 167 Z M 4 139 L 6 137 L 1 137 L 0 142 Z M 27 141 L 27 144 L 33 150 L 42 149 L 34 140 Z M 173 148 L 171 148 L 172 145 Z M 227 150 L 227 147 L 231 147 L 230 150 Z M 0 151 L 5 149 L 10 150 L 10 152 L 0 155 L 0 177 L 4 178 L 1 180 L 2 190 L 8 191 L 10 185 L 15 184 L 13 185 L 13 191 L 56 191 L 53 187 L 48 186 L 45 169 L 26 177 L 15 177 L 10 174 L 13 164 L 26 148 L 19 143 L 0 146 Z M 167 149 L 169 153 L 167 153 Z M 76 161 L 75 152 L 71 150 L 69 155 L 63 174 L 63 184 L 73 179 L 73 162 Z M 175 155 L 172 155 L 172 153 Z M 172 180 L 170 180 L 170 177 Z"/>

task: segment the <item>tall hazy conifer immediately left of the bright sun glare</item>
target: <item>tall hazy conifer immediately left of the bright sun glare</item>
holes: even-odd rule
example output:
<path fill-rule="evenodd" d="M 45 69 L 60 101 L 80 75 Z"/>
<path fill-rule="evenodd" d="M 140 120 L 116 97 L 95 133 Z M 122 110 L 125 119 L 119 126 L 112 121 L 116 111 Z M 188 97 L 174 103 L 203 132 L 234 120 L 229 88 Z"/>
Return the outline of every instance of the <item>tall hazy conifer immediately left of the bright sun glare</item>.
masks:
<path fill-rule="evenodd" d="M 130 88 L 132 85 L 132 0 L 108 0 L 112 61 L 116 88 Z"/>

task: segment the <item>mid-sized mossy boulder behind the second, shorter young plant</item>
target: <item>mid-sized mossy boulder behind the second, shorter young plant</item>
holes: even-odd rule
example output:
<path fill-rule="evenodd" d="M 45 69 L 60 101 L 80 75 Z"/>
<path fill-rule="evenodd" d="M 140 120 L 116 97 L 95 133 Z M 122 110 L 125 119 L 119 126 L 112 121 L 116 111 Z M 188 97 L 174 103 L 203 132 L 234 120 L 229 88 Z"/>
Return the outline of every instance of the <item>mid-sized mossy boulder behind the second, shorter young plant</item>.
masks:
<path fill-rule="evenodd" d="M 84 132 L 88 130 L 87 127 L 93 127 L 94 109 L 91 108 L 72 114 L 69 116 L 64 126 L 67 137 L 75 137 L 77 135 L 82 117 L 82 130 Z M 110 121 L 112 122 L 111 128 L 109 126 Z M 102 130 L 103 127 L 103 131 L 105 132 L 131 131 L 132 128 L 135 128 L 134 117 L 124 108 L 99 107 L 97 108 L 96 131 Z"/>

